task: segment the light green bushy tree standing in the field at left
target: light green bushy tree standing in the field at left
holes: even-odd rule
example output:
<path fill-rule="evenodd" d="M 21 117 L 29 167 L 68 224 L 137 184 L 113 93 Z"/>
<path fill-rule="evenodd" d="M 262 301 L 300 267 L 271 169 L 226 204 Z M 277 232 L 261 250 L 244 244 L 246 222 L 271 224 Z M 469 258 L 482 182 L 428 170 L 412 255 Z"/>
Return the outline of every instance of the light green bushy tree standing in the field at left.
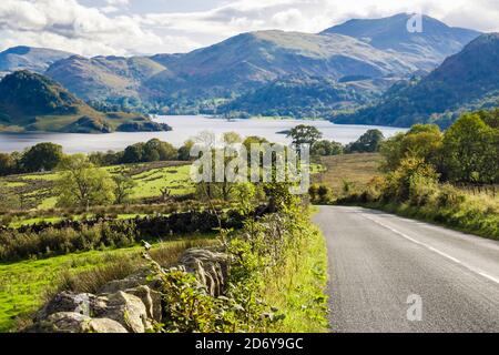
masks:
<path fill-rule="evenodd" d="M 93 165 L 88 156 L 64 156 L 58 169 L 61 179 L 57 182 L 58 206 L 105 205 L 115 201 L 114 182 L 103 169 Z"/>

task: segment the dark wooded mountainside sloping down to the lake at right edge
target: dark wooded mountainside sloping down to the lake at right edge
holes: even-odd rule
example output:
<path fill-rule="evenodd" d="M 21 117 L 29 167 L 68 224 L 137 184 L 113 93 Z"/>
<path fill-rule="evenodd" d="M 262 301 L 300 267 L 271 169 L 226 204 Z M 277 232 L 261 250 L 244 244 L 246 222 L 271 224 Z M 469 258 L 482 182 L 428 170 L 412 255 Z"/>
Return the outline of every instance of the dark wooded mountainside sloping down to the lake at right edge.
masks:
<path fill-rule="evenodd" d="M 482 34 L 427 77 L 401 82 L 380 102 L 337 123 L 410 126 L 435 122 L 448 126 L 461 111 L 499 105 L 499 33 Z"/>

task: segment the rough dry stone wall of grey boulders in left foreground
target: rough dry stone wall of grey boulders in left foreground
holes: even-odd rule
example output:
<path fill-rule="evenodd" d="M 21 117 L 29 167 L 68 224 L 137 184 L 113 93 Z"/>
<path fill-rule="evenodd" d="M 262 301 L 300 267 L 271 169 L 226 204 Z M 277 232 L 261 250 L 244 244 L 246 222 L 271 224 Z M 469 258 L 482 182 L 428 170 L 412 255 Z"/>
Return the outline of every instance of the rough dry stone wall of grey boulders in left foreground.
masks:
<path fill-rule="evenodd" d="M 146 255 L 147 257 L 147 255 Z M 159 273 L 167 272 L 151 261 Z M 196 275 L 212 296 L 223 293 L 228 256 L 204 248 L 184 253 L 175 268 Z M 98 294 L 62 292 L 34 317 L 31 333 L 144 333 L 154 331 L 163 317 L 159 277 L 143 270 L 105 284 Z"/>

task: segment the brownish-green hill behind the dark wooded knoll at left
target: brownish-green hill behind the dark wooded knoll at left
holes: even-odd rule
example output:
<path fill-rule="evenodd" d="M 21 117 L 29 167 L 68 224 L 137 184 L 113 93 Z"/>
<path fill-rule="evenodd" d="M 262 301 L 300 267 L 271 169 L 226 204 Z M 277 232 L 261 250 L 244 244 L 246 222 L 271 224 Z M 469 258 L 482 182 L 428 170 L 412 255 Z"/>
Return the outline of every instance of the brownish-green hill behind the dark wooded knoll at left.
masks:
<path fill-rule="evenodd" d="M 79 98 L 101 100 L 139 98 L 142 82 L 165 71 L 165 67 L 144 57 L 72 55 L 50 65 L 45 74 Z"/>

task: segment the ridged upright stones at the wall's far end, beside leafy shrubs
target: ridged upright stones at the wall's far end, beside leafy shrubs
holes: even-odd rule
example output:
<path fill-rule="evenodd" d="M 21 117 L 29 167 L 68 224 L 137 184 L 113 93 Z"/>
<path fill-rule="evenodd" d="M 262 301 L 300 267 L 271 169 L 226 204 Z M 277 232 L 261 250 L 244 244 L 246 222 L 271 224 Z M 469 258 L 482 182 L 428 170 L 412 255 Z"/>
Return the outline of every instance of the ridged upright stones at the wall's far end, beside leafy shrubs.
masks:
<path fill-rule="evenodd" d="M 206 292 L 214 297 L 223 294 L 227 276 L 228 256 L 203 248 L 191 248 L 180 263 L 189 273 L 194 273 Z"/>

